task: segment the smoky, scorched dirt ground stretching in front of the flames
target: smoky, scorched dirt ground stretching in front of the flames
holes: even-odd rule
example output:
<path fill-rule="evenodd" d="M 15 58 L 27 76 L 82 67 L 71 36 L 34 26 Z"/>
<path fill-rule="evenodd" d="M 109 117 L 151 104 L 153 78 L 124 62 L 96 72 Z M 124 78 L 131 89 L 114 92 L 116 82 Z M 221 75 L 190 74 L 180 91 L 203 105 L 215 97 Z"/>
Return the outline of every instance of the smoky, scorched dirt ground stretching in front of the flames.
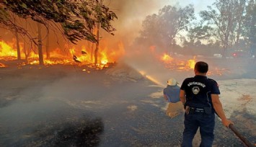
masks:
<path fill-rule="evenodd" d="M 12 65 L 0 68 L 0 89 L 3 147 L 180 146 L 182 141 L 183 116 L 165 115 L 163 88 L 128 66 L 97 71 Z M 243 109 L 230 117 L 255 145 L 255 115 Z M 215 134 L 213 146 L 243 146 L 218 119 Z"/>

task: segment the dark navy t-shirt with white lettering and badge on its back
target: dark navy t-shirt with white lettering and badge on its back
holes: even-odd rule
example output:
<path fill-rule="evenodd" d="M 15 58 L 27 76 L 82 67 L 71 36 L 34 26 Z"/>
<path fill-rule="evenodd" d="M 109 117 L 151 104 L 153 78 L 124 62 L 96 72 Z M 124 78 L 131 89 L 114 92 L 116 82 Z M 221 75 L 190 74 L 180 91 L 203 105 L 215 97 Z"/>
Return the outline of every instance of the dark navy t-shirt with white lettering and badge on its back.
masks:
<path fill-rule="evenodd" d="M 212 107 L 211 94 L 220 94 L 217 82 L 207 76 L 187 78 L 180 89 L 185 91 L 185 105 L 190 107 Z"/>

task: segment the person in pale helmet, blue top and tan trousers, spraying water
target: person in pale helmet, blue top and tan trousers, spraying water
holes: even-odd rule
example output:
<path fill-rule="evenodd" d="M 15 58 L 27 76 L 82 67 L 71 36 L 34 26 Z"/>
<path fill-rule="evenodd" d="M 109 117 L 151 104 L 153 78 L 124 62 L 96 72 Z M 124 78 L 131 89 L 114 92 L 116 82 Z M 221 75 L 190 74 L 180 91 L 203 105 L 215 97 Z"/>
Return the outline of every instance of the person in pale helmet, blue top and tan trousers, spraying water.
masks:
<path fill-rule="evenodd" d="M 167 87 L 163 91 L 164 99 L 169 102 L 166 115 L 171 118 L 184 112 L 183 104 L 180 102 L 180 86 L 177 84 L 178 82 L 171 78 L 167 81 Z"/>

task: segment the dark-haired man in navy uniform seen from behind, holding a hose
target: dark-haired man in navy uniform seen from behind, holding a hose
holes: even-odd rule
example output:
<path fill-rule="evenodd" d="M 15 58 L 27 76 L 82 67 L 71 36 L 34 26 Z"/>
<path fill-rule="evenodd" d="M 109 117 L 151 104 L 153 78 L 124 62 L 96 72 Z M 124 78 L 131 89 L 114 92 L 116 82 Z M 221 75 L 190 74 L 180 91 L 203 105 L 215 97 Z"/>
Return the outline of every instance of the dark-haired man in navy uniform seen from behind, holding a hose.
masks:
<path fill-rule="evenodd" d="M 213 79 L 208 79 L 206 73 L 208 64 L 199 61 L 195 63 L 195 76 L 187 78 L 180 87 L 180 100 L 185 108 L 185 129 L 182 146 L 192 146 L 193 138 L 200 128 L 200 146 L 212 146 L 214 139 L 215 114 L 222 120 L 224 126 L 232 123 L 226 119 L 219 100 L 219 86 Z"/>

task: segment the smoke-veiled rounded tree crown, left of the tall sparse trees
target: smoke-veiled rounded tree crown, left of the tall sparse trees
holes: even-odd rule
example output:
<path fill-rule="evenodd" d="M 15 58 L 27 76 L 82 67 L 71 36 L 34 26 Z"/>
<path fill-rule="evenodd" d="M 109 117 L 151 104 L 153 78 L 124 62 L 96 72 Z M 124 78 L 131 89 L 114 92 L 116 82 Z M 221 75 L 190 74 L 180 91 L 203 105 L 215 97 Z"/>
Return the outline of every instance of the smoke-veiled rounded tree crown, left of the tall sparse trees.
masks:
<path fill-rule="evenodd" d="M 187 30 L 190 21 L 195 19 L 193 5 L 177 8 L 164 6 L 158 14 L 152 14 L 144 19 L 138 40 L 161 48 L 175 45 L 175 37 L 182 30 Z"/>

